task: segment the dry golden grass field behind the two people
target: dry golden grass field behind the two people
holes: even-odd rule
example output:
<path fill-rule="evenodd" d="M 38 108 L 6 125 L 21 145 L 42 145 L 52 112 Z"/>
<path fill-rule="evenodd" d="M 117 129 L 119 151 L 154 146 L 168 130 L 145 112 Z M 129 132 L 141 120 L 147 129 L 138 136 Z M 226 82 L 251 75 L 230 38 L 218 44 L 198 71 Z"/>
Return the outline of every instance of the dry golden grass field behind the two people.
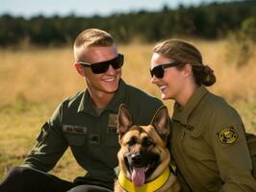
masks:
<path fill-rule="evenodd" d="M 193 40 L 204 62 L 215 70 L 210 89 L 240 112 L 247 132 L 256 133 L 256 54 L 243 67 L 225 60 L 226 41 Z M 123 79 L 160 98 L 148 73 L 152 44 L 120 46 Z M 76 74 L 72 47 L 0 50 L 0 180 L 35 144 L 40 126 L 60 101 L 85 88 Z M 169 111 L 172 102 L 165 102 Z M 68 150 L 52 173 L 65 180 L 85 174 Z"/>

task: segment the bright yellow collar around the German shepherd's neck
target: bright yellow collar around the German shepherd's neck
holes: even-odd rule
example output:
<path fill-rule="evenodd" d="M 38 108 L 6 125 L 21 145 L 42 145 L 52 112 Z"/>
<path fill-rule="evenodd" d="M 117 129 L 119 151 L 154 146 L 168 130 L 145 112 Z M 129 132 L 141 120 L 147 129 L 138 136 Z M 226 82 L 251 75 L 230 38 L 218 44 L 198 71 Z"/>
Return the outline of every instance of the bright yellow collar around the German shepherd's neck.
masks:
<path fill-rule="evenodd" d="M 118 181 L 122 188 L 129 192 L 150 192 L 156 191 L 161 188 L 166 181 L 168 180 L 170 175 L 169 168 L 167 167 L 166 170 L 163 172 L 161 176 L 159 176 L 156 180 L 152 180 L 150 182 L 144 183 L 140 187 L 136 187 L 131 180 L 128 180 L 123 175 L 122 171 L 120 171 L 118 176 Z"/>

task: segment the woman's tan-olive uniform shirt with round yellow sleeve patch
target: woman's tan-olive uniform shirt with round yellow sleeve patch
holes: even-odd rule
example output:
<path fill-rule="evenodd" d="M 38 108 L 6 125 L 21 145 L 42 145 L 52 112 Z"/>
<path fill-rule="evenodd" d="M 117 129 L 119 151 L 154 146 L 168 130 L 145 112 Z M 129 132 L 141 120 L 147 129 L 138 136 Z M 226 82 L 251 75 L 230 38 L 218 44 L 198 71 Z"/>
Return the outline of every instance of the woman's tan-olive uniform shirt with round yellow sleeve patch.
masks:
<path fill-rule="evenodd" d="M 171 153 L 183 191 L 256 191 L 243 122 L 222 98 L 199 86 L 173 111 Z"/>

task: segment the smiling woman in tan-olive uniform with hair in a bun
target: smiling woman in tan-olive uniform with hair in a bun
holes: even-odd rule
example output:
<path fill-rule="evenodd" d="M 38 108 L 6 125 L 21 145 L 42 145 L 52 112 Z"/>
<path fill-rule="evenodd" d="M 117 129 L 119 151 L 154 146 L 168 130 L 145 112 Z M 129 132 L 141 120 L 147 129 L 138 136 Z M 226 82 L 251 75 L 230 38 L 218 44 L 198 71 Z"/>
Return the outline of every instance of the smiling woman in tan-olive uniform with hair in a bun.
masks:
<path fill-rule="evenodd" d="M 175 101 L 170 149 L 183 191 L 256 191 L 241 117 L 205 87 L 216 77 L 197 48 L 158 43 L 150 73 L 162 99 Z"/>

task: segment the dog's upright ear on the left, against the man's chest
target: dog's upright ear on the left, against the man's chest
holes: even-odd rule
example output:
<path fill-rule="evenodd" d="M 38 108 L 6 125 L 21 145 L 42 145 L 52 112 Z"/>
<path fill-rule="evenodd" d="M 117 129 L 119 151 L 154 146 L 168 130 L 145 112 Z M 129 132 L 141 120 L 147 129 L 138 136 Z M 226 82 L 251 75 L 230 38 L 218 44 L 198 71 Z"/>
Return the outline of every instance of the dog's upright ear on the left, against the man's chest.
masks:
<path fill-rule="evenodd" d="M 133 120 L 131 112 L 124 104 L 121 104 L 117 114 L 117 133 L 122 137 L 125 132 L 129 131 L 132 125 Z"/>

